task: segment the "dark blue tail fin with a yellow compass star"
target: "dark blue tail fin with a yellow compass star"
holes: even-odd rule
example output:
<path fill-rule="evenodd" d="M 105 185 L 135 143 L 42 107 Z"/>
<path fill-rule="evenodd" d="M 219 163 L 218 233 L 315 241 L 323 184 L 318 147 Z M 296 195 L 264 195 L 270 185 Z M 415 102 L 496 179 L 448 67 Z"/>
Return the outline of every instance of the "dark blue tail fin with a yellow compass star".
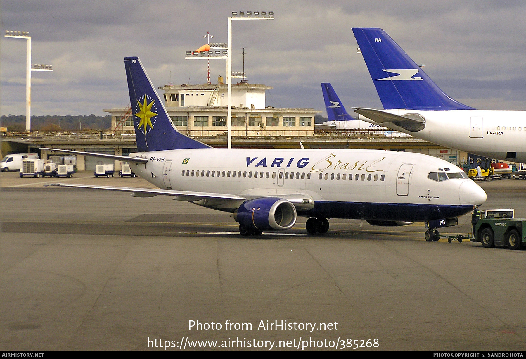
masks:
<path fill-rule="evenodd" d="M 177 131 L 138 57 L 125 57 L 124 66 L 139 152 L 210 147 Z"/>

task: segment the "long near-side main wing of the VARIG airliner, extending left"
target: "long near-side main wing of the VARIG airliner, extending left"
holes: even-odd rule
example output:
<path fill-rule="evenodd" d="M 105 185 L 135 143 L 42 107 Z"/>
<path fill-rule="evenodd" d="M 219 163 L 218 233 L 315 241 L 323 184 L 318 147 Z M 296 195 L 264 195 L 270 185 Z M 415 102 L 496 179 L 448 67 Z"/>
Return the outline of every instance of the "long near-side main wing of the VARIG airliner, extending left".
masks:
<path fill-rule="evenodd" d="M 179 201 L 199 201 L 203 199 L 217 199 L 217 200 L 246 200 L 246 197 L 235 194 L 224 193 L 210 193 L 210 192 L 191 192 L 191 191 L 172 191 L 160 190 L 153 188 L 136 188 L 136 187 L 114 187 L 114 186 L 94 186 L 94 185 L 80 185 L 80 184 L 66 184 L 66 183 L 51 183 L 44 186 L 56 187 L 70 187 L 70 188 L 85 188 L 88 190 L 104 190 L 117 192 L 131 192 L 132 197 L 154 197 L 157 195 L 173 196 Z"/>

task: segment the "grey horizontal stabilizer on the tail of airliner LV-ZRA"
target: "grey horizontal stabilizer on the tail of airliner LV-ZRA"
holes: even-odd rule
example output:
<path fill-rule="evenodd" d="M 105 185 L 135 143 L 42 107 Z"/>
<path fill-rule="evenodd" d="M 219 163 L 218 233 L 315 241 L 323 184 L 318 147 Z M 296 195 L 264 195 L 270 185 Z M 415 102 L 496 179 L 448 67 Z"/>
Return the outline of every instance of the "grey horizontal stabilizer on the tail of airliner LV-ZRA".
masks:
<path fill-rule="evenodd" d="M 420 115 L 403 117 L 379 109 L 359 107 L 355 107 L 354 112 L 370 120 L 367 121 L 366 119 L 359 118 L 362 121 L 375 123 L 397 131 L 405 129 L 406 131 L 417 132 L 426 126 L 426 119 Z"/>

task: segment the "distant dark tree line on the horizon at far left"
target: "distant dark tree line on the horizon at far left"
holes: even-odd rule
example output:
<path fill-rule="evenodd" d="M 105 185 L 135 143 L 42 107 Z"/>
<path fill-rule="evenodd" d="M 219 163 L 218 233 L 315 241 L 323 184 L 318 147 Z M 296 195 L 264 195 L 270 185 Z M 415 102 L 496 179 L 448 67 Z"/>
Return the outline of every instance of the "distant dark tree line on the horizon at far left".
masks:
<path fill-rule="evenodd" d="M 25 115 L 0 116 L 0 126 L 7 131 L 24 131 Z M 65 115 L 65 116 L 31 116 L 31 129 L 41 131 L 80 131 L 87 129 L 109 129 L 112 126 L 112 115 Z"/>

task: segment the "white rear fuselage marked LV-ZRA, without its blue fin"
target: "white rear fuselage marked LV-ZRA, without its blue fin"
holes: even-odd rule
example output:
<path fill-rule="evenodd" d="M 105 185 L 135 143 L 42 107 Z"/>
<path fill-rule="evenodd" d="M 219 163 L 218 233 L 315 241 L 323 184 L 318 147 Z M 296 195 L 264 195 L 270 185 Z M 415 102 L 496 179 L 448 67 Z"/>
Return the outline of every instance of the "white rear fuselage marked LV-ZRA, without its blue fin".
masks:
<path fill-rule="evenodd" d="M 393 129 L 426 139 L 444 147 L 460 149 L 488 158 L 526 163 L 526 111 L 457 109 L 423 111 L 388 109 L 403 116 L 418 113 L 426 118 L 426 127 L 419 132 Z M 507 155 L 515 154 L 515 158 Z"/>

